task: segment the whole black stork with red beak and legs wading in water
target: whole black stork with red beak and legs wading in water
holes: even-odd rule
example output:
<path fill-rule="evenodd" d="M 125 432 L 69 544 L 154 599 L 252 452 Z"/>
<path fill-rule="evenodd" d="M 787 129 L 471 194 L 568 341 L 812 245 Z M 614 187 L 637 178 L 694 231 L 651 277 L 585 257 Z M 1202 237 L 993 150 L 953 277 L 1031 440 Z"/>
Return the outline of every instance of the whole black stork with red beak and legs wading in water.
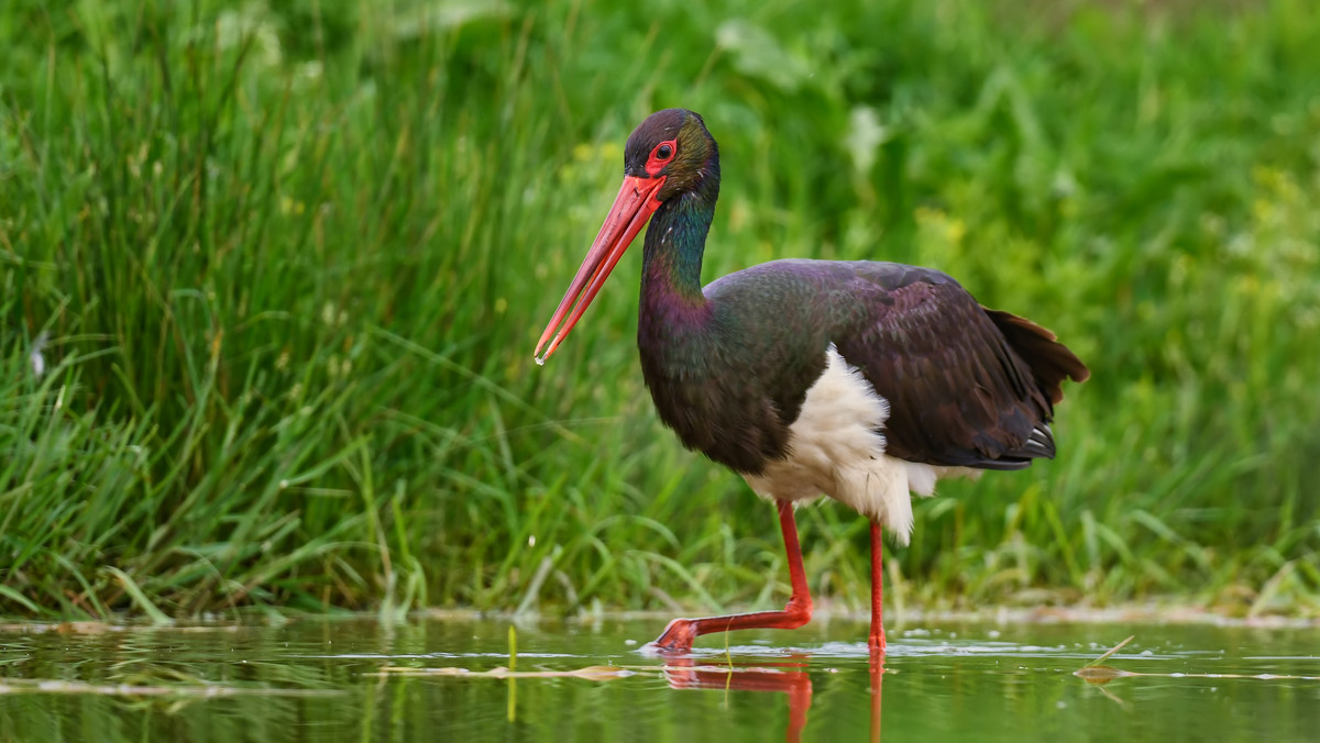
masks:
<path fill-rule="evenodd" d="M 870 648 L 883 653 L 880 527 L 906 545 L 911 494 L 932 495 L 944 476 L 1052 458 L 1063 380 L 1085 380 L 1086 366 L 1048 330 L 982 307 L 929 268 L 776 260 L 702 288 L 719 150 L 692 111 L 648 116 L 628 137 L 623 173 L 536 344 L 537 363 L 649 220 L 638 347 L 651 397 L 684 446 L 775 503 L 792 585 L 783 611 L 675 619 L 655 647 L 686 651 L 708 632 L 805 624 L 812 598 L 793 503 L 828 495 L 871 520 Z"/>

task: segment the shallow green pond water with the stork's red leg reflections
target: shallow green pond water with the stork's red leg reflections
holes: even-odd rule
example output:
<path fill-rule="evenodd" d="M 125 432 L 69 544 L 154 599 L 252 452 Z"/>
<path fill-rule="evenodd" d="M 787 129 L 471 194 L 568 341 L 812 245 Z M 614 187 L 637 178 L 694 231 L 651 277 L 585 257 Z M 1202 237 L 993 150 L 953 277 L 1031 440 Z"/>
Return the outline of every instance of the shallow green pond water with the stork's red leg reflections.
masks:
<path fill-rule="evenodd" d="M 0 740 L 1320 739 L 1317 627 L 917 623 L 883 674 L 859 622 L 640 652 L 663 627 L 519 626 L 502 677 L 507 622 L 11 624 Z"/>

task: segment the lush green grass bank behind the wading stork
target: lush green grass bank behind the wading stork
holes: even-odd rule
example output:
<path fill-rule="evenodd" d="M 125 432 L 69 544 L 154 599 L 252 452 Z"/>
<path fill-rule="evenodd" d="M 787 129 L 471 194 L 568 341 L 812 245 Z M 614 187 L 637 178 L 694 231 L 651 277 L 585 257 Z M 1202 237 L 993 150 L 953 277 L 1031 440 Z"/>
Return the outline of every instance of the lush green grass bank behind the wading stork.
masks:
<path fill-rule="evenodd" d="M 919 504 L 898 600 L 1320 612 L 1320 15 L 1147 5 L 5 3 L 0 611 L 781 600 L 651 410 L 638 255 L 532 363 L 684 106 L 708 280 L 932 265 L 1093 370 L 1057 461 Z M 863 607 L 866 524 L 803 531 Z"/>

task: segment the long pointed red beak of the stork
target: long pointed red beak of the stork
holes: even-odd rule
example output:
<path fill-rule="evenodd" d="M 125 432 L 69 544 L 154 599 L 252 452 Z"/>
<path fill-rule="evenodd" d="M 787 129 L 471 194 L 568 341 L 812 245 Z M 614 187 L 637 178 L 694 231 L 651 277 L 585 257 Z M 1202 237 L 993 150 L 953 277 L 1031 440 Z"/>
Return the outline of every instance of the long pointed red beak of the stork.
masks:
<path fill-rule="evenodd" d="M 601 232 L 591 243 L 591 249 L 587 251 L 582 267 L 573 277 L 573 284 L 569 284 L 569 290 L 560 300 L 554 317 L 545 326 L 541 339 L 536 342 L 536 363 L 544 364 L 545 359 L 549 359 L 550 354 L 568 338 L 573 326 L 586 311 L 586 306 L 591 304 L 597 292 L 605 285 L 605 280 L 610 277 L 614 264 L 623 257 L 623 251 L 628 249 L 632 239 L 638 236 L 655 210 L 660 209 L 656 194 L 660 193 L 661 186 L 664 186 L 664 176 L 657 178 L 626 176 L 623 178 L 623 186 L 619 187 L 619 195 L 614 198 L 610 215 L 605 218 L 605 224 L 601 226 Z M 573 314 L 569 314 L 570 309 Z M 565 315 L 568 315 L 568 322 L 564 321 Z M 564 327 L 560 327 L 561 323 Z M 545 348 L 545 355 L 541 355 L 541 348 L 545 347 L 550 335 L 554 335 L 554 340 L 549 348 Z"/>

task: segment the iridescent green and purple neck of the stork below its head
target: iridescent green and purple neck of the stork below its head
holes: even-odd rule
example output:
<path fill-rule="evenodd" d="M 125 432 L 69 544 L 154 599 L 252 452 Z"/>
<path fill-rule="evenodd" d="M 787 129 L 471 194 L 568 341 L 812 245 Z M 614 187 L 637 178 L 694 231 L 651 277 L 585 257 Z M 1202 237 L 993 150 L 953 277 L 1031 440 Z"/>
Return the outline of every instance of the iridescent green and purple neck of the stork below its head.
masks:
<path fill-rule="evenodd" d="M 664 202 L 647 228 L 642 253 L 642 313 L 653 302 L 705 305 L 701 256 L 715 215 L 718 181 L 713 189 L 686 191 Z M 713 193 L 705 193 L 713 191 Z M 656 307 L 659 309 L 659 307 Z"/>

